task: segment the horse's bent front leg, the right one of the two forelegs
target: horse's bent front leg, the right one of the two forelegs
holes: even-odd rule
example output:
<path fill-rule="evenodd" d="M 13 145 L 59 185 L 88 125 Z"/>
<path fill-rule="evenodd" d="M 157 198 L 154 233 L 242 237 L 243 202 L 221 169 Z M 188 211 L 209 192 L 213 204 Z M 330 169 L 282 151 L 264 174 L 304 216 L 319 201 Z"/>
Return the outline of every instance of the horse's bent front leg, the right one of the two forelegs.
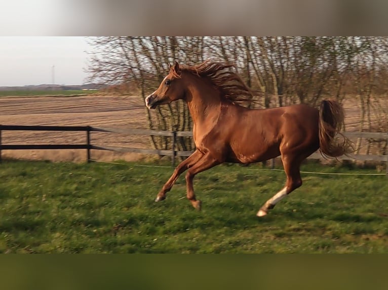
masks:
<path fill-rule="evenodd" d="M 210 154 L 206 154 L 201 158 L 196 164 L 187 170 L 186 173 L 186 187 L 187 187 L 187 199 L 191 202 L 191 205 L 198 211 L 201 210 L 201 201 L 196 199 L 194 194 L 194 188 L 192 186 L 192 179 L 194 176 L 202 171 L 210 169 L 218 164 L 220 164 L 217 159 L 213 158 Z"/>

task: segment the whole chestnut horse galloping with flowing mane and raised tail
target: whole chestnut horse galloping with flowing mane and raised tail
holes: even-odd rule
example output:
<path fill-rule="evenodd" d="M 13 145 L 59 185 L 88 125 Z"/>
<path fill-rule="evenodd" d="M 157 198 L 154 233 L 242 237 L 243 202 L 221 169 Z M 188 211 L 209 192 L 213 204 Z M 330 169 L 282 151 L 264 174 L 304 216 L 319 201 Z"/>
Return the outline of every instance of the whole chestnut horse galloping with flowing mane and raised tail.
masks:
<path fill-rule="evenodd" d="M 155 201 L 166 198 L 179 175 L 187 170 L 187 199 L 197 210 L 192 179 L 223 162 L 253 163 L 281 156 L 287 175 L 285 187 L 258 211 L 269 209 L 302 185 L 300 164 L 320 149 L 321 154 L 337 157 L 350 152 L 346 138 L 334 139 L 343 125 L 343 109 L 336 101 L 322 101 L 320 109 L 292 105 L 271 109 L 249 109 L 239 105 L 250 102 L 252 94 L 233 65 L 205 61 L 195 66 L 170 67 L 156 91 L 145 99 L 148 109 L 178 99 L 187 103 L 193 120 L 196 150 L 174 170 Z M 343 136 L 343 135 L 342 135 Z"/>

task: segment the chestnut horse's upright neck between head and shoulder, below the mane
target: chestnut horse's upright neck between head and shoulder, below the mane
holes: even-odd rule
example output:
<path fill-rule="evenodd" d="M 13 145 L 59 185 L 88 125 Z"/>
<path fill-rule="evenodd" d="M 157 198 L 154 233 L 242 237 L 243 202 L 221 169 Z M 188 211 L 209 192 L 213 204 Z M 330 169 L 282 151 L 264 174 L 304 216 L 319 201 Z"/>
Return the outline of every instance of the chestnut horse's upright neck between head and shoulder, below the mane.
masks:
<path fill-rule="evenodd" d="M 218 119 L 221 96 L 206 79 L 191 75 L 186 85 L 186 102 L 195 126 Z"/>

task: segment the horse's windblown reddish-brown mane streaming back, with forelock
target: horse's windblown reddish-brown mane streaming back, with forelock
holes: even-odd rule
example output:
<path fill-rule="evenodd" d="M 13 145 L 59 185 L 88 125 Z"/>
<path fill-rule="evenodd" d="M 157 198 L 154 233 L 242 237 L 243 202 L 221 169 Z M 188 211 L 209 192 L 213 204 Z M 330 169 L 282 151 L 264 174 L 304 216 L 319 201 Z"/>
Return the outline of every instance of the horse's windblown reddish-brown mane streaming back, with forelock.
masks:
<path fill-rule="evenodd" d="M 205 61 L 198 65 L 181 65 L 182 71 L 199 75 L 209 79 L 214 87 L 220 92 L 221 96 L 232 103 L 252 103 L 253 95 L 248 86 L 241 77 L 230 70 L 236 68 L 235 65 L 222 64 L 212 61 Z M 180 72 L 170 71 L 175 77 L 180 78 Z"/>

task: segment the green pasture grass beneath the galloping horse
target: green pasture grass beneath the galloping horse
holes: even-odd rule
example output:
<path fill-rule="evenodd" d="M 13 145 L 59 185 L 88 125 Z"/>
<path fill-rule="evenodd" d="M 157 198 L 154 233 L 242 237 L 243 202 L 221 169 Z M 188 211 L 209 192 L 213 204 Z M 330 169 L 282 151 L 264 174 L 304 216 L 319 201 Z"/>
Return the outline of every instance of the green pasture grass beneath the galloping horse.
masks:
<path fill-rule="evenodd" d="M 3 161 L 0 252 L 388 253 L 386 176 L 302 174 L 302 187 L 259 219 L 284 172 L 221 165 L 200 173 L 197 212 L 184 176 L 154 203 L 173 168 L 139 165 Z M 302 170 L 376 173 L 313 163 Z"/>

